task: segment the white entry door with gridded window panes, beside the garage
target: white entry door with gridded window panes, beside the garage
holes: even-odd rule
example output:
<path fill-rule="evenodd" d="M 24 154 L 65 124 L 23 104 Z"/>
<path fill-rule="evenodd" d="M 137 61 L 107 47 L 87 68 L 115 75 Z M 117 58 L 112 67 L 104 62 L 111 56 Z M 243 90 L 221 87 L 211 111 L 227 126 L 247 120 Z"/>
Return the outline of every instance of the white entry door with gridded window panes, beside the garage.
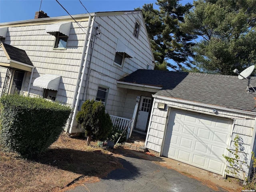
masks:
<path fill-rule="evenodd" d="M 136 129 L 146 132 L 146 126 L 148 122 L 148 115 L 150 113 L 150 106 L 151 106 L 151 97 L 144 97 L 142 96 L 140 98 L 140 106 L 137 116 L 137 122 L 136 122 Z"/>

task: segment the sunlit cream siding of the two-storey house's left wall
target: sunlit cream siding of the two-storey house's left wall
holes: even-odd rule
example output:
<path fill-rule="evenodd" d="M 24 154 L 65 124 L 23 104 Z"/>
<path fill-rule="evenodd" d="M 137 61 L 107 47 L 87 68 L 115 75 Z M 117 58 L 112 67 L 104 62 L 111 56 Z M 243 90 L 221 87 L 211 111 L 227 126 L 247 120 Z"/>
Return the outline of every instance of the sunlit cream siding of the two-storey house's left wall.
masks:
<path fill-rule="evenodd" d="M 80 22 L 86 31 L 88 22 Z M 86 35 L 79 28 L 78 24 L 72 23 L 70 35 L 68 37 L 67 49 L 53 49 L 55 37 L 46 33 L 46 25 L 9 27 L 9 36 L 6 43 L 23 49 L 28 54 L 36 70 L 33 74 L 32 82 L 43 74 L 59 74 L 62 76 L 57 98 L 61 102 L 73 103 L 74 91 L 80 69 L 80 59 L 82 57 L 82 47 Z M 27 74 L 30 76 L 30 74 Z M 29 78 L 26 78 L 25 90 L 27 91 Z M 43 89 L 31 85 L 30 95 L 42 96 Z"/>

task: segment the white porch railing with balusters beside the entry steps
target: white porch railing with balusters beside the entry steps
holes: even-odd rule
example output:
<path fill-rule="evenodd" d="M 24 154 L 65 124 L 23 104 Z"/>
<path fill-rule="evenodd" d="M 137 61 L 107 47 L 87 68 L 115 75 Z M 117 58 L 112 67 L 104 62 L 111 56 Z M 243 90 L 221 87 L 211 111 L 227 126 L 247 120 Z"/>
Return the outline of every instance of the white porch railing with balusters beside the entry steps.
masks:
<path fill-rule="evenodd" d="M 110 115 L 110 119 L 112 121 L 113 126 L 118 126 L 120 130 L 127 130 L 127 139 L 130 136 L 130 130 L 132 126 L 132 119 L 122 118 L 114 115 Z"/>

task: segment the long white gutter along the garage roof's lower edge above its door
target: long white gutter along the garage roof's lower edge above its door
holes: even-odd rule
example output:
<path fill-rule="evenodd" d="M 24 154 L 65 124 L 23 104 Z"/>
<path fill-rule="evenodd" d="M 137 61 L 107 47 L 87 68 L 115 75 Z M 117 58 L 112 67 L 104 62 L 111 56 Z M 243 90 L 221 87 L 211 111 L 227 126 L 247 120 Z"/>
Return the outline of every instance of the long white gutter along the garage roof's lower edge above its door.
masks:
<path fill-rule="evenodd" d="M 230 111 L 230 112 L 236 112 L 236 113 L 242 113 L 242 114 L 256 116 L 256 112 L 244 111 L 244 110 L 239 110 L 239 109 L 231 109 L 231 108 L 227 108 L 227 107 L 214 106 L 214 105 L 203 104 L 203 103 L 198 103 L 198 102 L 180 100 L 180 99 L 175 99 L 175 98 L 168 98 L 168 97 L 158 96 L 158 95 L 152 95 L 152 96 L 157 99 L 163 99 L 163 100 L 168 100 L 168 101 L 173 101 L 173 102 L 180 102 L 180 103 L 184 103 L 184 104 L 191 104 L 191 105 L 197 105 L 197 106 L 202 106 L 202 107 L 207 107 L 207 108 L 215 108 L 215 109 L 219 109 L 219 110 L 226 110 L 226 111 Z"/>

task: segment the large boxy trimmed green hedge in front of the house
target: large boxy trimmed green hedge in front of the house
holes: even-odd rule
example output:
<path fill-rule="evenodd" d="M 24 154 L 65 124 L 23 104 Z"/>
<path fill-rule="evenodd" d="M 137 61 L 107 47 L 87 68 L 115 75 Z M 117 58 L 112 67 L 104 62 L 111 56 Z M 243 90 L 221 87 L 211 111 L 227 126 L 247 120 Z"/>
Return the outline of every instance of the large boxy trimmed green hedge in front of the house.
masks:
<path fill-rule="evenodd" d="M 71 109 L 42 98 L 4 95 L 0 98 L 2 145 L 23 157 L 44 152 L 60 136 Z"/>

